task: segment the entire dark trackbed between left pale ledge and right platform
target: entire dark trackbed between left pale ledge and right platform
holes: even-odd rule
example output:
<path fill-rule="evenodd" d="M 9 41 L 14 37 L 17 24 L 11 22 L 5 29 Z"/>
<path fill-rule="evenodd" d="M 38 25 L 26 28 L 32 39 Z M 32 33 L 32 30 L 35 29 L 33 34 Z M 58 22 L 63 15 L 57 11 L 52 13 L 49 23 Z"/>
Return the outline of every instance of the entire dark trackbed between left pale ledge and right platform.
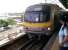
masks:
<path fill-rule="evenodd" d="M 46 45 L 50 37 L 42 36 L 39 40 L 37 38 L 29 39 L 27 35 L 24 35 L 20 39 L 16 40 L 12 44 L 2 47 L 0 50 L 42 50 Z"/>

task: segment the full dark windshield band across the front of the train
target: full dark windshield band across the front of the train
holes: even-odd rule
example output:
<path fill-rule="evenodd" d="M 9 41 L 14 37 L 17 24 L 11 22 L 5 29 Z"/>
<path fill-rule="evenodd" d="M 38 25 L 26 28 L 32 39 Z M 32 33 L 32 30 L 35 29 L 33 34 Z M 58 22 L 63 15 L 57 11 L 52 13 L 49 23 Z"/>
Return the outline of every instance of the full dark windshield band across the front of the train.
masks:
<path fill-rule="evenodd" d="M 30 11 L 25 13 L 26 22 L 48 22 L 50 20 L 50 9 L 46 11 Z"/>

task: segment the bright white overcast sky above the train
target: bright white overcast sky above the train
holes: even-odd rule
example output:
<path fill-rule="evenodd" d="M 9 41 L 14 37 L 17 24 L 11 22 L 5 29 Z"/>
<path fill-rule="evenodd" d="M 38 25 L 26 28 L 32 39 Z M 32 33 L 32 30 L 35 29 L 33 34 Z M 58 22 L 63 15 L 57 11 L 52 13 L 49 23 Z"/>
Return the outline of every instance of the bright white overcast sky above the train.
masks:
<path fill-rule="evenodd" d="M 24 12 L 28 6 L 45 3 L 45 1 L 59 4 L 58 0 L 0 0 L 0 15 L 3 13 Z"/>

